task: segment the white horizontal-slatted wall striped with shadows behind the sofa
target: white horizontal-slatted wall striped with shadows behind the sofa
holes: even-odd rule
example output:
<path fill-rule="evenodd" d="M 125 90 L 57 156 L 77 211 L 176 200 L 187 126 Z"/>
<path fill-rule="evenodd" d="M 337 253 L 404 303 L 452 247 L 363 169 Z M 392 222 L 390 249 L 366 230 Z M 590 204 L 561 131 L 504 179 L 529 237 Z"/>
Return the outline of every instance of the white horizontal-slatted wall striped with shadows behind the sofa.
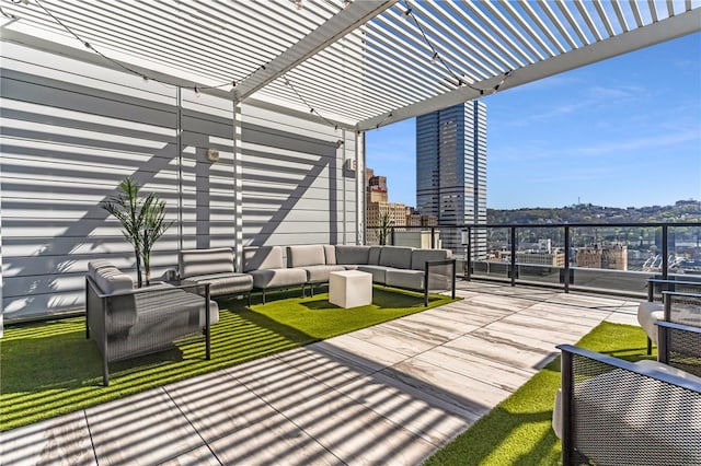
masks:
<path fill-rule="evenodd" d="M 230 101 L 182 90 L 181 198 L 176 88 L 7 42 L 0 78 L 5 319 L 82 308 L 89 260 L 135 273 L 130 246 L 101 208 L 126 176 L 158 193 L 174 221 L 154 248 L 153 276 L 176 267 L 181 202 L 184 247 L 234 246 Z M 340 144 L 343 130 L 313 115 L 241 107 L 244 245 L 355 243 L 355 174 L 343 166 L 354 133 Z"/>

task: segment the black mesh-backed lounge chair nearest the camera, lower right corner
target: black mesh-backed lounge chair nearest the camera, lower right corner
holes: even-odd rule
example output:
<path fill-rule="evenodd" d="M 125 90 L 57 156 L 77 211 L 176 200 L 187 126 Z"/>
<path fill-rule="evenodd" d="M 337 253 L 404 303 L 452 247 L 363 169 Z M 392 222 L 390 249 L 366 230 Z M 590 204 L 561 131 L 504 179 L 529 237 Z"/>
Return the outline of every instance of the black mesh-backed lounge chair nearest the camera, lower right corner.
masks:
<path fill-rule="evenodd" d="M 570 345 L 553 430 L 563 464 L 701 464 L 701 377 Z"/>

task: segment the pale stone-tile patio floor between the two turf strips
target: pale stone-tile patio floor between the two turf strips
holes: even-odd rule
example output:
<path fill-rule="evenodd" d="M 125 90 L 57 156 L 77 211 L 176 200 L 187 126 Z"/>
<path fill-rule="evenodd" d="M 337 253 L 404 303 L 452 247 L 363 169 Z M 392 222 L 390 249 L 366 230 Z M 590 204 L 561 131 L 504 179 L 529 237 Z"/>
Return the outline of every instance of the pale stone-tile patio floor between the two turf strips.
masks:
<path fill-rule="evenodd" d="M 458 286 L 452 304 L 0 433 L 2 464 L 420 464 L 555 345 L 636 324 L 635 299 Z"/>

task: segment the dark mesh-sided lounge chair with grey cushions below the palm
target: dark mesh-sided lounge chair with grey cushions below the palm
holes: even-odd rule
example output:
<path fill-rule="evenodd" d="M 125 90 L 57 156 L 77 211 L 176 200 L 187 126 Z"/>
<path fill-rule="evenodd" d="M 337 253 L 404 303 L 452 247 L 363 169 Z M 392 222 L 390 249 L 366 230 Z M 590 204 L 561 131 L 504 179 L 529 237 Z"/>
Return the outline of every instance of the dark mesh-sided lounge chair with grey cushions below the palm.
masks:
<path fill-rule="evenodd" d="M 88 265 L 85 276 L 85 337 L 102 353 L 103 383 L 110 384 L 108 363 L 172 347 L 183 337 L 205 336 L 219 322 L 219 307 L 209 300 L 209 284 L 168 283 L 134 289 L 131 277 L 105 260 Z"/>

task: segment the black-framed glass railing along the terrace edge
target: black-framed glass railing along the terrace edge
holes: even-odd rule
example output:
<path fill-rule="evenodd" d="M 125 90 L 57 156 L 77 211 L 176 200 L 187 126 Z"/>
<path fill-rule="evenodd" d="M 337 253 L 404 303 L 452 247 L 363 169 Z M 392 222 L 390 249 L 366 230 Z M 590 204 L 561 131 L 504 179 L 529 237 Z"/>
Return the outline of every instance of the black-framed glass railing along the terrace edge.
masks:
<path fill-rule="evenodd" d="M 701 279 L 701 222 L 393 226 L 386 244 L 448 248 L 460 278 L 514 287 L 645 296 L 651 277 Z"/>

